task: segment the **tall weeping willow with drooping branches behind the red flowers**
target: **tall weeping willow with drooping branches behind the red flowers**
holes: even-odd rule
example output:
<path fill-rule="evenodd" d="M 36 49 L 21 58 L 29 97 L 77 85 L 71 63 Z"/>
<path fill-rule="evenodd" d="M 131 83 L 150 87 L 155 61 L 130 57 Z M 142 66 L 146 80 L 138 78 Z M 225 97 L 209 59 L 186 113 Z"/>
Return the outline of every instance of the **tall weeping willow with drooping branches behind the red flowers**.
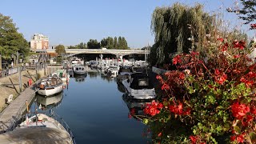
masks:
<path fill-rule="evenodd" d="M 214 27 L 214 18 L 204 12 L 200 4 L 190 7 L 175 3 L 157 7 L 151 21 L 155 45 L 150 58 L 156 58 L 156 63 L 170 63 L 171 54 L 202 50 L 206 34 Z"/>

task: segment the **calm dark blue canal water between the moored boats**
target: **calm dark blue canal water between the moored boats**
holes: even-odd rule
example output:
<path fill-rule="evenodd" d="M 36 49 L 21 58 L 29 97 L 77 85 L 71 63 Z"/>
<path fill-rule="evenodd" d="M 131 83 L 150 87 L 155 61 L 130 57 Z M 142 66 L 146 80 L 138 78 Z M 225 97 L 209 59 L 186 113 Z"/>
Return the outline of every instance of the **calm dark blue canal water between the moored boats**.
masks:
<path fill-rule="evenodd" d="M 125 101 L 121 91 L 115 79 L 88 73 L 86 78 L 70 78 L 69 86 L 62 94 L 51 98 L 37 96 L 31 110 L 38 107 L 38 103 L 57 102 L 39 112 L 49 113 L 52 109 L 61 116 L 70 126 L 78 144 L 149 142 L 149 138 L 142 136 L 146 126 L 128 118 L 129 107 L 136 102 Z"/>

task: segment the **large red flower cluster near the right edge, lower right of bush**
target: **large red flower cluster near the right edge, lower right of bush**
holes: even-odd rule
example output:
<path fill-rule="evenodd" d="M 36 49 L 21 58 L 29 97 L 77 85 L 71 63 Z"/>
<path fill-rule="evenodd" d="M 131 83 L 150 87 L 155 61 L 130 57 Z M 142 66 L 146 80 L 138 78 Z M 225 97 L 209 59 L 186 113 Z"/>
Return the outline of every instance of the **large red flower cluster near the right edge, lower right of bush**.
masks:
<path fill-rule="evenodd" d="M 234 102 L 231 106 L 232 114 L 234 118 L 242 119 L 246 116 L 248 112 L 250 112 L 250 107 L 245 104 L 239 104 L 238 102 Z"/>

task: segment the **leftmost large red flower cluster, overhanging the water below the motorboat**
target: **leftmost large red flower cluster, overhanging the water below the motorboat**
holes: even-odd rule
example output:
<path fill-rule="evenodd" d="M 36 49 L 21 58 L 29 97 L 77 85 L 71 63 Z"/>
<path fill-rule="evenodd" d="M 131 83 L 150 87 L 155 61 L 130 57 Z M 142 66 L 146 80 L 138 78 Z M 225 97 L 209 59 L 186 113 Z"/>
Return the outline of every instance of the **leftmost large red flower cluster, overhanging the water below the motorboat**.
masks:
<path fill-rule="evenodd" d="M 152 101 L 151 103 L 146 104 L 145 109 L 143 110 L 145 114 L 149 114 L 154 116 L 155 114 L 159 114 L 160 110 L 162 110 L 162 103 Z"/>

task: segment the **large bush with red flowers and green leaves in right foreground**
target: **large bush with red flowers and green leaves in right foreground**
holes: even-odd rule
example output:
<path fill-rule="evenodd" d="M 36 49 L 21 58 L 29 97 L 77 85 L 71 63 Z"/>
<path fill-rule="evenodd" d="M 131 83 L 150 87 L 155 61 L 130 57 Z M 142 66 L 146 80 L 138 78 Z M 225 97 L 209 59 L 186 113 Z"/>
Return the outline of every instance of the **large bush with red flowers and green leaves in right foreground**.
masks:
<path fill-rule="evenodd" d="M 195 51 L 176 55 L 172 62 L 177 70 L 157 76 L 165 97 L 147 104 L 143 119 L 155 142 L 256 142 L 252 49 L 244 41 L 224 38 L 206 48 L 203 56 Z M 175 135 L 175 130 L 182 132 Z"/>

